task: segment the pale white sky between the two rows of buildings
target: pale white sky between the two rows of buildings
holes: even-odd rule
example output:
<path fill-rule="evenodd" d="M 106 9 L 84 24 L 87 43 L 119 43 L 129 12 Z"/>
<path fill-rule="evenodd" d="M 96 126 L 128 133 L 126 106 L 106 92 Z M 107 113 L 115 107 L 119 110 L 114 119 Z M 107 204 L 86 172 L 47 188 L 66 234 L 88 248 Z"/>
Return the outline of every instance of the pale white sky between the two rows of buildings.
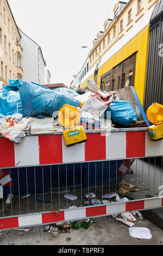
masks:
<path fill-rule="evenodd" d="M 17 26 L 41 47 L 51 83 L 70 86 L 118 0 L 8 0 Z M 126 1 L 128 2 L 128 1 Z"/>

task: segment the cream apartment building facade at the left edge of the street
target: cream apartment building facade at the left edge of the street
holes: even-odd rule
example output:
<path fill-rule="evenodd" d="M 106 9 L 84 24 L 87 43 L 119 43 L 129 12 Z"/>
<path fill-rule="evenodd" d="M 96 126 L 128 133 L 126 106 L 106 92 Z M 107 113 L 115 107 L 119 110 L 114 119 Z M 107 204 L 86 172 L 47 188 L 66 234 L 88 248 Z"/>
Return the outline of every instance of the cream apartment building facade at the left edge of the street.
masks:
<path fill-rule="evenodd" d="M 0 0 L 0 81 L 22 79 L 21 35 L 7 0 Z"/>

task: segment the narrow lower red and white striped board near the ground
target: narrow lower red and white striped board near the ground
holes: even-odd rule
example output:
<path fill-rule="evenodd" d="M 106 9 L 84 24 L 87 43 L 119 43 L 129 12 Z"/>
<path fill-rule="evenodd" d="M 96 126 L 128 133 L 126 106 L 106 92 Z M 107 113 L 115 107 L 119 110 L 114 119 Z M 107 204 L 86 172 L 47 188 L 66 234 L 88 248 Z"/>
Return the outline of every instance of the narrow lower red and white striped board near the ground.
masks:
<path fill-rule="evenodd" d="M 54 212 L 39 214 L 22 215 L 20 217 L 0 218 L 0 230 L 29 227 L 54 222 L 65 222 L 81 220 L 85 218 L 101 217 L 112 214 L 121 214 L 128 211 L 140 211 L 147 209 L 160 208 L 163 206 L 163 198 L 147 198 L 143 200 L 133 200 L 124 203 L 110 203 L 101 206 L 87 206 L 59 211 L 58 215 Z"/>

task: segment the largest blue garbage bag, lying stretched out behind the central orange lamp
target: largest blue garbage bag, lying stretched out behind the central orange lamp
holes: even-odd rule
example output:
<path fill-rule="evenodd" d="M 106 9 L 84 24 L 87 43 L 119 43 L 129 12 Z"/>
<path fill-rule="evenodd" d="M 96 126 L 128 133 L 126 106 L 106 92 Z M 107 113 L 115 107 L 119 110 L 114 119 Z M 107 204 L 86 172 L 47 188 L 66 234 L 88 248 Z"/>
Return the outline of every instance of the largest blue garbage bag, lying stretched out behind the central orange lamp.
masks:
<path fill-rule="evenodd" d="M 20 88 L 20 97 L 24 113 L 31 117 L 37 116 L 41 119 L 45 118 L 45 115 L 56 117 L 59 110 L 65 104 L 74 107 L 80 105 L 80 101 L 73 97 L 60 92 L 54 92 L 52 89 L 33 82 L 23 82 Z"/>

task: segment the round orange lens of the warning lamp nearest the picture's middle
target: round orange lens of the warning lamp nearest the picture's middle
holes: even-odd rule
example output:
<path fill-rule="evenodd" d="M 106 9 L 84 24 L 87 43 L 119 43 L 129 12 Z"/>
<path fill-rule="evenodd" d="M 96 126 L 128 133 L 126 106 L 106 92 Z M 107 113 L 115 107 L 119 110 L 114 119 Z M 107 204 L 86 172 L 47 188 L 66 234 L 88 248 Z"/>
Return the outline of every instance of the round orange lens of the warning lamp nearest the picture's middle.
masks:
<path fill-rule="evenodd" d="M 66 104 L 60 109 L 58 120 L 62 126 L 72 129 L 76 127 L 80 121 L 80 112 L 76 107 Z"/>

